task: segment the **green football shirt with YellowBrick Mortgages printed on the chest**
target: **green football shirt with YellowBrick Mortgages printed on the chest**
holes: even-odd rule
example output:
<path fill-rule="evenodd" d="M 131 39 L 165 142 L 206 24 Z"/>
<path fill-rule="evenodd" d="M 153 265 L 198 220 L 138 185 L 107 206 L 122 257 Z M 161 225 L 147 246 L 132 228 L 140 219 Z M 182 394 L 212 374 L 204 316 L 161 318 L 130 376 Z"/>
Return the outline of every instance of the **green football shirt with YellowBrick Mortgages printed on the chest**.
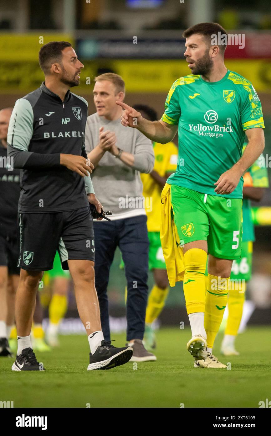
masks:
<path fill-rule="evenodd" d="M 245 130 L 264 128 L 261 102 L 251 82 L 228 71 L 218 82 L 187 75 L 171 86 L 162 120 L 178 125 L 176 173 L 167 183 L 218 195 L 214 183 L 241 157 Z M 242 198 L 243 177 L 227 198 Z"/>

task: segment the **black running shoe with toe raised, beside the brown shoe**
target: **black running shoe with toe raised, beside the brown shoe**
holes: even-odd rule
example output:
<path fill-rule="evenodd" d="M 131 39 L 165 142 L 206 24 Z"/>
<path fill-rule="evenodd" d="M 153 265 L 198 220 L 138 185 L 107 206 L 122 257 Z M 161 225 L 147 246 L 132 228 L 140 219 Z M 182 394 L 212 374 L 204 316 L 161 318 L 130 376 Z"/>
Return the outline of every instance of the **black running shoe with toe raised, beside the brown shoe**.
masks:
<path fill-rule="evenodd" d="M 87 371 L 93 369 L 111 369 L 128 362 L 133 355 L 133 348 L 116 348 L 111 341 L 101 341 L 94 354 L 90 353 Z"/>

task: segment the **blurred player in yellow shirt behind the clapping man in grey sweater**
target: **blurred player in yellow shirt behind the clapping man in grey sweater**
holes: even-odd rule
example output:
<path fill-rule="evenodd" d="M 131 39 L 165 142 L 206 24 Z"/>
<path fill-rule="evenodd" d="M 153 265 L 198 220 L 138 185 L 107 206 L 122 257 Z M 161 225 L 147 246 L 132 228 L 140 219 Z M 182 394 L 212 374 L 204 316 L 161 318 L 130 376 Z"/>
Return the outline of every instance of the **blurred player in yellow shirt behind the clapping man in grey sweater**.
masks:
<path fill-rule="evenodd" d="M 134 105 L 134 109 L 141 112 L 143 118 L 150 121 L 157 121 L 157 112 L 147 105 Z M 146 309 L 146 325 L 144 342 L 148 349 L 155 348 L 155 334 L 152 323 L 156 320 L 163 310 L 169 284 L 167 279 L 167 269 L 164 260 L 163 250 L 160 240 L 161 224 L 161 192 L 167 178 L 176 171 L 177 167 L 177 147 L 173 142 L 160 144 L 153 142 L 154 148 L 154 169 L 150 174 L 141 174 L 143 183 L 143 196 L 151 201 L 152 207 L 147 208 L 147 229 L 150 241 L 149 247 L 149 270 L 154 275 L 154 286 L 149 294 Z"/>

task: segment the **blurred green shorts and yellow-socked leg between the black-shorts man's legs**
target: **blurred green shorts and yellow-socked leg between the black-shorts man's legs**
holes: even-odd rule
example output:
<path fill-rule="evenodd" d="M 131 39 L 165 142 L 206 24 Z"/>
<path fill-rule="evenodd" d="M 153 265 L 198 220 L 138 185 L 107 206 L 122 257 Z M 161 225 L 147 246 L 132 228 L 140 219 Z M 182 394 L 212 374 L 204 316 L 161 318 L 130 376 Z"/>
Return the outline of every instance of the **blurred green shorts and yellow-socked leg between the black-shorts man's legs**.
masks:
<path fill-rule="evenodd" d="M 54 268 L 47 271 L 52 289 L 49 304 L 49 324 L 46 330 L 46 340 L 51 347 L 57 347 L 59 325 L 67 312 L 68 287 L 70 273 L 62 269 L 58 253 L 54 258 Z"/>

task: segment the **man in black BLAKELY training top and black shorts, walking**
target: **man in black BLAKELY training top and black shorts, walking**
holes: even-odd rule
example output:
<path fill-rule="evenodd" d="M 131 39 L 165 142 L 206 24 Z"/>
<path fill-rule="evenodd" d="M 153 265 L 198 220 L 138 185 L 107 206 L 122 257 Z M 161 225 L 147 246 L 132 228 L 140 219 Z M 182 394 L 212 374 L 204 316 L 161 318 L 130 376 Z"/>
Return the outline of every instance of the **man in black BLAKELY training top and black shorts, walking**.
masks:
<path fill-rule="evenodd" d="M 130 347 L 104 341 L 94 286 L 94 233 L 89 203 L 101 211 L 90 174 L 84 132 L 87 101 L 69 91 L 80 83 L 81 64 L 71 44 L 45 44 L 39 53 L 45 82 L 15 103 L 8 129 L 8 156 L 20 168 L 21 268 L 15 315 L 18 351 L 13 371 L 43 369 L 30 330 L 39 280 L 52 269 L 56 250 L 74 280 L 77 309 L 90 344 L 88 370 L 126 363 Z"/>

